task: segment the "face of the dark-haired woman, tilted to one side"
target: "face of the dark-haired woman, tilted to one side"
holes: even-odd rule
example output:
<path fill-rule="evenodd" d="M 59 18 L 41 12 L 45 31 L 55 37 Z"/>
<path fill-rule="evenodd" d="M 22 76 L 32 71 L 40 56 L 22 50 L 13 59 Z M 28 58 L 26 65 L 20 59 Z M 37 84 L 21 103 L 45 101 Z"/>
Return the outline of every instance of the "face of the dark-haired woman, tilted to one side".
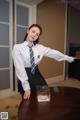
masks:
<path fill-rule="evenodd" d="M 27 41 L 33 42 L 36 41 L 40 36 L 40 29 L 38 27 L 32 27 L 28 30 Z"/>

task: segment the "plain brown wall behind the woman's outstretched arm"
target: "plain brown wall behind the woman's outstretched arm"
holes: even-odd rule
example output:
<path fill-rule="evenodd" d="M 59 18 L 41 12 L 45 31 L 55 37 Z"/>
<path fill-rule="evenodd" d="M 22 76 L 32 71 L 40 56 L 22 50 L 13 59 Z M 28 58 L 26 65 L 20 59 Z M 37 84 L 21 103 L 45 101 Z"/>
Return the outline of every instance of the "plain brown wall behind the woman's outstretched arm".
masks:
<path fill-rule="evenodd" d="M 40 43 L 64 52 L 65 5 L 56 0 L 45 0 L 37 7 L 37 22 L 43 28 Z M 40 70 L 45 78 L 63 74 L 63 62 L 54 59 L 43 59 Z"/>

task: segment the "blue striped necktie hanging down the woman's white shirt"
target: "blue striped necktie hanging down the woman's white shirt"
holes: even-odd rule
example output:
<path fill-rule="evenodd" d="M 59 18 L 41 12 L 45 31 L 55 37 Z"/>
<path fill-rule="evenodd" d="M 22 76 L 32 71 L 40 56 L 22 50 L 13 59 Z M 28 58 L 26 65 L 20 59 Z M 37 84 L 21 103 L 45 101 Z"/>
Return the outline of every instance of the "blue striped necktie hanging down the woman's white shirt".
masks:
<path fill-rule="evenodd" d="M 30 52 L 30 63 L 31 63 L 31 73 L 35 74 L 35 60 L 34 60 L 34 53 L 32 50 L 32 46 L 29 46 L 29 52 Z"/>

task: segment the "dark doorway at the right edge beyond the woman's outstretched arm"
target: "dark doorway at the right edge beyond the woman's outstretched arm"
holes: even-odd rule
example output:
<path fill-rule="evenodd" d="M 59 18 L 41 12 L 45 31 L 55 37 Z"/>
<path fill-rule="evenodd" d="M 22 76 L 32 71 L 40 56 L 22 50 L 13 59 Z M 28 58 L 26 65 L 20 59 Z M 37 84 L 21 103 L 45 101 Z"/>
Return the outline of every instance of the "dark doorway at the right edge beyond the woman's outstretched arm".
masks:
<path fill-rule="evenodd" d="M 80 9 L 78 9 L 77 6 L 68 5 L 67 52 L 70 56 L 76 58 L 78 51 L 80 51 Z M 68 79 L 80 79 L 79 68 L 79 59 L 68 64 Z"/>

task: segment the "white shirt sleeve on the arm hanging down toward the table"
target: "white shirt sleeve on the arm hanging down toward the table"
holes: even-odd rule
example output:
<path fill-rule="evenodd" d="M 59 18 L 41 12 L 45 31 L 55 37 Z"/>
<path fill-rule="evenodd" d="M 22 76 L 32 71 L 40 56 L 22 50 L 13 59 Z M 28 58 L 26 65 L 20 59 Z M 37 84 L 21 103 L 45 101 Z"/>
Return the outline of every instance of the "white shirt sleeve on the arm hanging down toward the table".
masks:
<path fill-rule="evenodd" d="M 14 45 L 14 48 L 12 51 L 12 57 L 13 57 L 13 62 L 15 66 L 16 75 L 18 79 L 21 81 L 24 91 L 30 89 L 28 76 L 24 67 L 24 62 L 17 45 Z"/>

